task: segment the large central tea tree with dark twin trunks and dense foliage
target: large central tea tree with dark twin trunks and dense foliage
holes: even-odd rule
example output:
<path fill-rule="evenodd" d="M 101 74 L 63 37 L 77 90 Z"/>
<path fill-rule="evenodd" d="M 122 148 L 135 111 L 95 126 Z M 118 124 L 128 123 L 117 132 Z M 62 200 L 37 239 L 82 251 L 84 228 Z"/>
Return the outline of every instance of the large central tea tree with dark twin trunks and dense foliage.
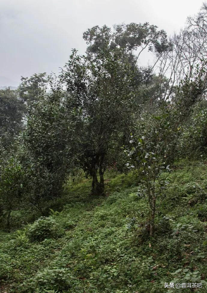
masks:
<path fill-rule="evenodd" d="M 80 167 L 93 179 L 92 193 L 103 193 L 104 171 L 113 161 L 110 152 L 116 142 L 119 151 L 133 124 L 132 76 L 119 54 L 101 51 L 91 61 L 75 50 L 59 76 L 59 87 L 66 88 L 66 108 L 78 117 L 73 141 Z"/>

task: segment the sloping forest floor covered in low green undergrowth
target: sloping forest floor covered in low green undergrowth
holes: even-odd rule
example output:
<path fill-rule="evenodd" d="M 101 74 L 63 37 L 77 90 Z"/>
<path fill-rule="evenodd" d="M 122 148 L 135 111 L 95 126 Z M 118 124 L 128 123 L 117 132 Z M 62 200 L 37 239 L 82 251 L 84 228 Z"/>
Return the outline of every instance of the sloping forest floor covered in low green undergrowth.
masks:
<path fill-rule="evenodd" d="M 49 216 L 61 237 L 32 242 L 28 225 L 0 233 L 0 292 L 206 292 L 207 162 L 172 169 L 151 238 L 135 174 L 108 173 L 99 197 L 89 195 L 90 180 L 68 184 Z M 170 282 L 202 288 L 164 288 Z"/>

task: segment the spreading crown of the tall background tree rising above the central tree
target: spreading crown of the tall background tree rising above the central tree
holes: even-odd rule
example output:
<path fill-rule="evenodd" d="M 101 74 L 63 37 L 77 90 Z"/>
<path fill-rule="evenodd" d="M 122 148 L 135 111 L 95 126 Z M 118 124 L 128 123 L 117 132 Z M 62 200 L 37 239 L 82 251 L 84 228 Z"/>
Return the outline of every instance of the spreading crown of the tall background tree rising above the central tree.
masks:
<path fill-rule="evenodd" d="M 123 60 L 135 71 L 136 83 L 149 82 L 153 68 L 169 48 L 166 32 L 149 23 L 123 23 L 114 25 L 113 29 L 112 32 L 106 25 L 94 26 L 83 33 L 83 38 L 88 44 L 87 56 L 96 58 L 99 50 L 119 51 Z M 139 68 L 137 65 L 137 60 L 144 50 L 153 52 L 156 56 L 154 64 L 149 68 Z"/>

